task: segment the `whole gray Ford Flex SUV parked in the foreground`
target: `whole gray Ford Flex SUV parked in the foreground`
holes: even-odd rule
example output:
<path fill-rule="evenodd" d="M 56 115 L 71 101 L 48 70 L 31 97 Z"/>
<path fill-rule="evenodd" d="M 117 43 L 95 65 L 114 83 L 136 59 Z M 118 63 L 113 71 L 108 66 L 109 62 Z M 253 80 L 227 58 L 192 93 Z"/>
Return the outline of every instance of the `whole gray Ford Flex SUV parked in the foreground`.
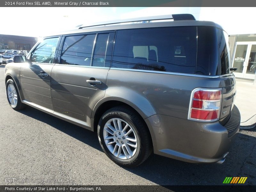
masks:
<path fill-rule="evenodd" d="M 121 166 L 152 152 L 223 163 L 240 125 L 230 64 L 227 33 L 189 14 L 101 23 L 15 56 L 6 95 L 14 110 L 28 105 L 98 132 Z"/>

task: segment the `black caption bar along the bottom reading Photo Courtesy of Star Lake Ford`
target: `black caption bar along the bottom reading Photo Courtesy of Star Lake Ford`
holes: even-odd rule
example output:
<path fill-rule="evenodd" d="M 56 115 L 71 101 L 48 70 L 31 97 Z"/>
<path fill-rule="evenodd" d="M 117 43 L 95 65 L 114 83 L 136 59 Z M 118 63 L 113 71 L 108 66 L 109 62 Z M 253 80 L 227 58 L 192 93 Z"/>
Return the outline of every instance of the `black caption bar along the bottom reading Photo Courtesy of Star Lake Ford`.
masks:
<path fill-rule="evenodd" d="M 160 185 L 1 185 L 1 192 L 255 192 L 256 186 L 220 185 L 220 186 L 160 186 Z"/>

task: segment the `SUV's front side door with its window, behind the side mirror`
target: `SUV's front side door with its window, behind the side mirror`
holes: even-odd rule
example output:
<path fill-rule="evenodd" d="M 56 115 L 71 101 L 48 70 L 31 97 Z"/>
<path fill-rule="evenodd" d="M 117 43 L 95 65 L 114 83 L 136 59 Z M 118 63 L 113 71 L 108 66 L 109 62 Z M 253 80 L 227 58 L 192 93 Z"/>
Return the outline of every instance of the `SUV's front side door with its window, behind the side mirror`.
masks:
<path fill-rule="evenodd" d="M 32 105 L 53 112 L 51 71 L 56 61 L 60 37 L 46 38 L 29 55 L 30 62 L 20 67 L 20 82 L 24 99 Z"/>

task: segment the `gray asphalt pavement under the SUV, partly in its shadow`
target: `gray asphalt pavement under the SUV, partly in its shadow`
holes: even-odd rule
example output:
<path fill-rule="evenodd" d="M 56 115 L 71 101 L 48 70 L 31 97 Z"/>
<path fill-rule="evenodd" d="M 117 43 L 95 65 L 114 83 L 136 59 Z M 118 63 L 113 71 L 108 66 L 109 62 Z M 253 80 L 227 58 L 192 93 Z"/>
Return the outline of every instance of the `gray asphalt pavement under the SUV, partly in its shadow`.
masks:
<path fill-rule="evenodd" d="M 31 107 L 13 110 L 5 96 L 4 65 L 0 98 L 0 185 L 221 185 L 237 176 L 248 177 L 244 185 L 256 185 L 256 128 L 240 130 L 223 164 L 151 155 L 127 169 L 108 159 L 96 133 Z"/>

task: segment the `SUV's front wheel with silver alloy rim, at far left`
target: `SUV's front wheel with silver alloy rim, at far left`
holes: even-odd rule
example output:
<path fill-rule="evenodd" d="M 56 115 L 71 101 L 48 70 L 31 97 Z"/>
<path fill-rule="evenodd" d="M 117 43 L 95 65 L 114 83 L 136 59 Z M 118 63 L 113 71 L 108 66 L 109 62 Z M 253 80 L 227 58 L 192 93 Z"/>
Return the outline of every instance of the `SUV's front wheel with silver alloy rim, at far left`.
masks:
<path fill-rule="evenodd" d="M 26 104 L 22 103 L 20 100 L 20 95 L 18 92 L 18 89 L 14 83 L 14 81 L 12 79 L 9 79 L 6 82 L 6 96 L 7 96 L 7 100 L 10 104 L 10 106 L 14 109 L 14 110 L 21 110 L 27 107 Z"/>

